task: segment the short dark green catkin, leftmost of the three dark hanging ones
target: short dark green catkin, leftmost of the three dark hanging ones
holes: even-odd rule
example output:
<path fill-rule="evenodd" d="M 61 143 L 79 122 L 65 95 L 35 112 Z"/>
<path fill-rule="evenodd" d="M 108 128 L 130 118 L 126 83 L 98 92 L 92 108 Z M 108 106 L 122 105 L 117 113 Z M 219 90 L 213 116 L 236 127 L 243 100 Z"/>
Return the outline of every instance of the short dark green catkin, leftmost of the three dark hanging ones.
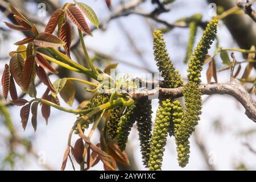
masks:
<path fill-rule="evenodd" d="M 118 129 L 118 123 L 120 121 L 121 117 L 121 106 L 117 106 L 114 109 L 112 109 L 109 121 L 108 121 L 108 134 L 110 139 L 114 139 L 117 137 L 117 129 Z"/>

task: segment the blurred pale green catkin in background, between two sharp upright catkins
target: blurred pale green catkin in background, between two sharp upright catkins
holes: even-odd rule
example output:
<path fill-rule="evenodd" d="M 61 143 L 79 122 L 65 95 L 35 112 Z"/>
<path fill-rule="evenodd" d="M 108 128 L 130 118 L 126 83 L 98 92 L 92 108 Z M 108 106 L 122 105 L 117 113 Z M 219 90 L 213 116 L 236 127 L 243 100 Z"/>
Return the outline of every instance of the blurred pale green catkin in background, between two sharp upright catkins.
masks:
<path fill-rule="evenodd" d="M 189 41 L 188 41 L 188 46 L 187 46 L 187 53 L 184 59 L 184 63 L 188 63 L 188 60 L 192 56 L 193 52 L 193 47 L 195 44 L 195 39 L 196 39 L 196 32 L 197 32 L 197 23 L 196 22 L 191 22 L 189 23 Z"/>

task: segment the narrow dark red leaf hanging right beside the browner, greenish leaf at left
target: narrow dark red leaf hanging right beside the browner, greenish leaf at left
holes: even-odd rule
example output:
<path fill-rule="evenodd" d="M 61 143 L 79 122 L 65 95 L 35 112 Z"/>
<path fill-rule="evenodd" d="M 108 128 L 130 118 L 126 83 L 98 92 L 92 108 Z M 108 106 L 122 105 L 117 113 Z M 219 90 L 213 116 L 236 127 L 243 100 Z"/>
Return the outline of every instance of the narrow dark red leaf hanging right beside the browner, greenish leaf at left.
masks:
<path fill-rule="evenodd" d="M 23 68 L 23 88 L 25 90 L 30 90 L 31 81 L 34 82 L 35 78 L 35 61 L 34 56 L 29 56 L 25 61 Z"/>

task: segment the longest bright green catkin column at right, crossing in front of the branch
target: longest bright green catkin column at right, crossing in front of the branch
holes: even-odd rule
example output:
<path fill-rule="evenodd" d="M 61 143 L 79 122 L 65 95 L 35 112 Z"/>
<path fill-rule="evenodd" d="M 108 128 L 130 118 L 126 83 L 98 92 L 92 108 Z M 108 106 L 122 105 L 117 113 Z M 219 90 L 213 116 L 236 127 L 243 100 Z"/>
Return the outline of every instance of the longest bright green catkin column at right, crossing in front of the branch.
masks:
<path fill-rule="evenodd" d="M 195 48 L 193 57 L 189 61 L 188 69 L 188 83 L 183 88 L 183 96 L 185 100 L 185 112 L 180 125 L 175 130 L 175 139 L 177 144 L 178 162 L 180 167 L 185 167 L 189 160 L 189 138 L 195 126 L 200 120 L 199 115 L 201 114 L 201 90 L 199 83 L 201 82 L 201 71 L 204 65 L 205 56 L 208 53 L 208 49 L 212 44 L 212 41 L 216 37 L 217 33 L 217 19 L 213 19 L 207 25 L 204 31 L 203 37 L 199 44 Z"/>

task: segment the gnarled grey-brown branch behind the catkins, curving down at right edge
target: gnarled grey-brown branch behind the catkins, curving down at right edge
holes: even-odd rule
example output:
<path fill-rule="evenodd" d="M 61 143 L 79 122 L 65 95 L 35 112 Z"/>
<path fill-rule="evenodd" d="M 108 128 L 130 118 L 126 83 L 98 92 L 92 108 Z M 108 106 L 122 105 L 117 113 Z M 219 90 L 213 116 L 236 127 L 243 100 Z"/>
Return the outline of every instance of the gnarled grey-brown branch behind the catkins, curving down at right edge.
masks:
<path fill-rule="evenodd" d="M 242 106 L 245 108 L 245 114 L 252 121 L 256 122 L 256 102 L 251 98 L 250 94 L 246 92 L 243 86 L 237 84 L 236 82 L 230 82 L 228 84 L 208 84 L 208 85 L 200 85 L 200 89 L 203 95 L 212 95 L 212 94 L 227 94 L 236 98 Z M 166 89 L 166 88 L 155 88 L 152 90 L 143 90 L 143 91 L 134 91 L 131 93 L 134 99 L 141 97 L 154 97 L 159 96 L 170 96 L 172 98 L 179 98 L 183 96 L 182 93 L 183 87 L 175 88 L 175 89 Z"/>

